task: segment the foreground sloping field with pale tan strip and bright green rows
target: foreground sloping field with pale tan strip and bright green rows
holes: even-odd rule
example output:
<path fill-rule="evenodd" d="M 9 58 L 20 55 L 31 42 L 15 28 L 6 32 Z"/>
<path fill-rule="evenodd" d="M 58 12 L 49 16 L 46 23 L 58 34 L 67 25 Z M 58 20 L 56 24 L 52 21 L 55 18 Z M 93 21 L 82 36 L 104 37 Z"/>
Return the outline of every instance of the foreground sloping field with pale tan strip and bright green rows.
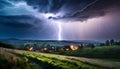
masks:
<path fill-rule="evenodd" d="M 118 69 L 120 66 L 120 62 L 6 48 L 0 48 L 0 56 L 0 63 L 8 62 L 0 65 L 2 69 Z"/>

